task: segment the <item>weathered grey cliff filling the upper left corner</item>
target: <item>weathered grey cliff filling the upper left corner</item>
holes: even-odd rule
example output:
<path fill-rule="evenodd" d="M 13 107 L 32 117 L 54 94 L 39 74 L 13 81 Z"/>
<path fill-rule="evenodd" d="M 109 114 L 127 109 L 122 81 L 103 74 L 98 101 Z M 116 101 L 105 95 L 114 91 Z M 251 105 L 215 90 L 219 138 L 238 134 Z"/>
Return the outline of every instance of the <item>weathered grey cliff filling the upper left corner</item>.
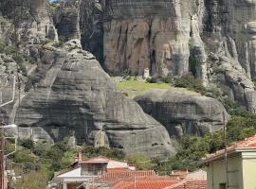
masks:
<path fill-rule="evenodd" d="M 30 43 L 44 42 L 46 37 L 58 41 L 46 0 L 1 0 L 0 10 L 12 20 L 18 38 L 31 39 Z"/>

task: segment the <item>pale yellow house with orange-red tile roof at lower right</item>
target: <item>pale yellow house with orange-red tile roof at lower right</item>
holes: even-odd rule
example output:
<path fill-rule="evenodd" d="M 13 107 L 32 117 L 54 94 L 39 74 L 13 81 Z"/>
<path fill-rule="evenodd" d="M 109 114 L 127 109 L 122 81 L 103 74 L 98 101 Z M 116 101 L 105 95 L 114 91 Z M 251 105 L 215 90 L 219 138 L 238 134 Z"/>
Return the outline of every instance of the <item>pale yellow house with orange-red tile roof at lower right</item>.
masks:
<path fill-rule="evenodd" d="M 232 144 L 209 154 L 207 165 L 208 189 L 255 189 L 256 188 L 256 136 Z"/>

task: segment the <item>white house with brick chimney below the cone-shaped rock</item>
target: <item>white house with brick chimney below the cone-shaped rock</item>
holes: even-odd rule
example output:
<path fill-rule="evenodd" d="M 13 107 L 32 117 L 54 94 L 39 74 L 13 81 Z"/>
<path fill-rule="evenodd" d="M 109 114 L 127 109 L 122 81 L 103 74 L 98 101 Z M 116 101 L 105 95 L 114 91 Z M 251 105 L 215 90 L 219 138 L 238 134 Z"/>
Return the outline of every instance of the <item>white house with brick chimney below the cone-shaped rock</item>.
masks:
<path fill-rule="evenodd" d="M 72 164 L 72 169 L 57 175 L 51 183 L 52 189 L 73 189 L 83 183 L 94 181 L 111 170 L 135 170 L 134 164 L 112 160 L 102 156 L 82 160 L 82 153 L 79 153 L 78 161 Z"/>

